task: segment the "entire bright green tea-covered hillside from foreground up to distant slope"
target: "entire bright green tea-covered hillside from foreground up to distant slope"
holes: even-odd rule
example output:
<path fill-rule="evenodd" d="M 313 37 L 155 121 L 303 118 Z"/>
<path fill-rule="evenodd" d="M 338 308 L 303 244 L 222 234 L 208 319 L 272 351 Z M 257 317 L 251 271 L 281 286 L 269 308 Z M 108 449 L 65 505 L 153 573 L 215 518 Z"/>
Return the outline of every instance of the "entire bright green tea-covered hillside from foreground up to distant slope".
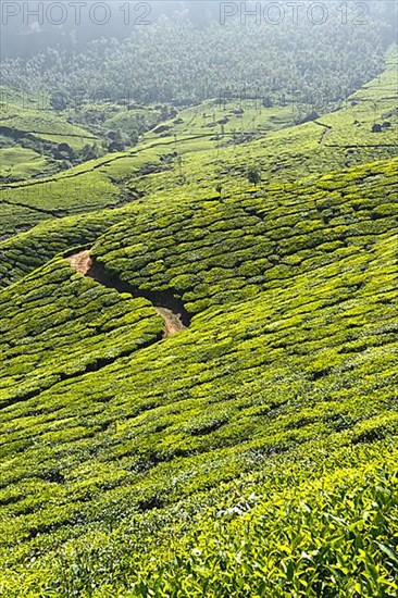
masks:
<path fill-rule="evenodd" d="M 397 595 L 394 68 L 4 189 L 0 595 Z"/>

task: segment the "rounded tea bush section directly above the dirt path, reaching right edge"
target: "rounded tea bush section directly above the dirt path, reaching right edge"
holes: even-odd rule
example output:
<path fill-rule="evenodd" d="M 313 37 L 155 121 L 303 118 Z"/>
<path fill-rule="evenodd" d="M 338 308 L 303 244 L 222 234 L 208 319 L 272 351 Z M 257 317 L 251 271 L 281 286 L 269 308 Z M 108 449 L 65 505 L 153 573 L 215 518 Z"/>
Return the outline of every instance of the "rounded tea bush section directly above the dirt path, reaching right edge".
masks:
<path fill-rule="evenodd" d="M 247 300 L 394 231 L 394 164 L 261 188 L 236 200 L 156 205 L 111 227 L 92 254 L 137 288 L 172 290 L 190 313 Z"/>

